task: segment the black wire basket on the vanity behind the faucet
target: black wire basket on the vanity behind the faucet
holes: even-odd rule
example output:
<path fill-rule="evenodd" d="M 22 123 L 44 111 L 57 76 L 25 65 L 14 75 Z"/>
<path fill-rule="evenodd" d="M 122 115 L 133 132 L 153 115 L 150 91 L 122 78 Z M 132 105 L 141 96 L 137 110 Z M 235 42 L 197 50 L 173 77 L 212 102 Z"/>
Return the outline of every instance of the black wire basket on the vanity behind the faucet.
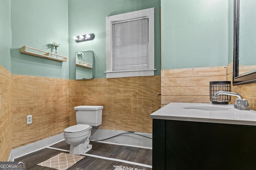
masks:
<path fill-rule="evenodd" d="M 218 99 L 214 99 L 214 94 L 218 91 L 231 92 L 230 81 L 214 81 L 210 82 L 210 101 L 212 104 L 228 104 L 231 100 L 230 95 L 220 94 Z"/>

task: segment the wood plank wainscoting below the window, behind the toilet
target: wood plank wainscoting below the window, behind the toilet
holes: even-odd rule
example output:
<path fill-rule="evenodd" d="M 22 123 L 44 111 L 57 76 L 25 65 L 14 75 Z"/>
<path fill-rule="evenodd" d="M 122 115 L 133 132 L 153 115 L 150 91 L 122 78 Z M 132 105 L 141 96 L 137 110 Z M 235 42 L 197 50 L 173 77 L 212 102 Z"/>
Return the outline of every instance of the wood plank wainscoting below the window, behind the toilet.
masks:
<path fill-rule="evenodd" d="M 160 76 L 69 80 L 70 125 L 75 106 L 103 106 L 100 129 L 152 133 L 150 114 L 161 107 Z"/>

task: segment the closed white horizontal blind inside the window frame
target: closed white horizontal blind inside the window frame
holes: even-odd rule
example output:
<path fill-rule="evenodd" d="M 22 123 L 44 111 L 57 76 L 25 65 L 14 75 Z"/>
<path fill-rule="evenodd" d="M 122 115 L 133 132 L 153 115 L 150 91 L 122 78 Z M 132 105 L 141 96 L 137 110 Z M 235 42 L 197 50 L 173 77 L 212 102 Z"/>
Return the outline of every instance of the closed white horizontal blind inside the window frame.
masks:
<path fill-rule="evenodd" d="M 148 69 L 148 18 L 112 23 L 113 71 Z"/>

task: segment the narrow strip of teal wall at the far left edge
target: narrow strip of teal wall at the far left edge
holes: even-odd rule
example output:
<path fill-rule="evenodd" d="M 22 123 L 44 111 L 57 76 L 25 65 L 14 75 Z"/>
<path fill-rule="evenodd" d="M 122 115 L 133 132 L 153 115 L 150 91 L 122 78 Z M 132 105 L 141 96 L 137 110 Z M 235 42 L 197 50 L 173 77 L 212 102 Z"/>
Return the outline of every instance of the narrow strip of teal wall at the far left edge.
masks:
<path fill-rule="evenodd" d="M 11 71 L 11 1 L 0 0 L 0 65 Z"/>

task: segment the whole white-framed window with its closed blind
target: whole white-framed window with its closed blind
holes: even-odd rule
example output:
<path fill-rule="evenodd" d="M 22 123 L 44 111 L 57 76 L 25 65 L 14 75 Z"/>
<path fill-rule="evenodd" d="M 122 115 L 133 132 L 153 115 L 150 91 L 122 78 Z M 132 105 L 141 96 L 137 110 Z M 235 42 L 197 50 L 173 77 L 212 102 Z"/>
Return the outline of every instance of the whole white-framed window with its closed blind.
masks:
<path fill-rule="evenodd" d="M 106 18 L 106 78 L 154 76 L 154 8 Z"/>

